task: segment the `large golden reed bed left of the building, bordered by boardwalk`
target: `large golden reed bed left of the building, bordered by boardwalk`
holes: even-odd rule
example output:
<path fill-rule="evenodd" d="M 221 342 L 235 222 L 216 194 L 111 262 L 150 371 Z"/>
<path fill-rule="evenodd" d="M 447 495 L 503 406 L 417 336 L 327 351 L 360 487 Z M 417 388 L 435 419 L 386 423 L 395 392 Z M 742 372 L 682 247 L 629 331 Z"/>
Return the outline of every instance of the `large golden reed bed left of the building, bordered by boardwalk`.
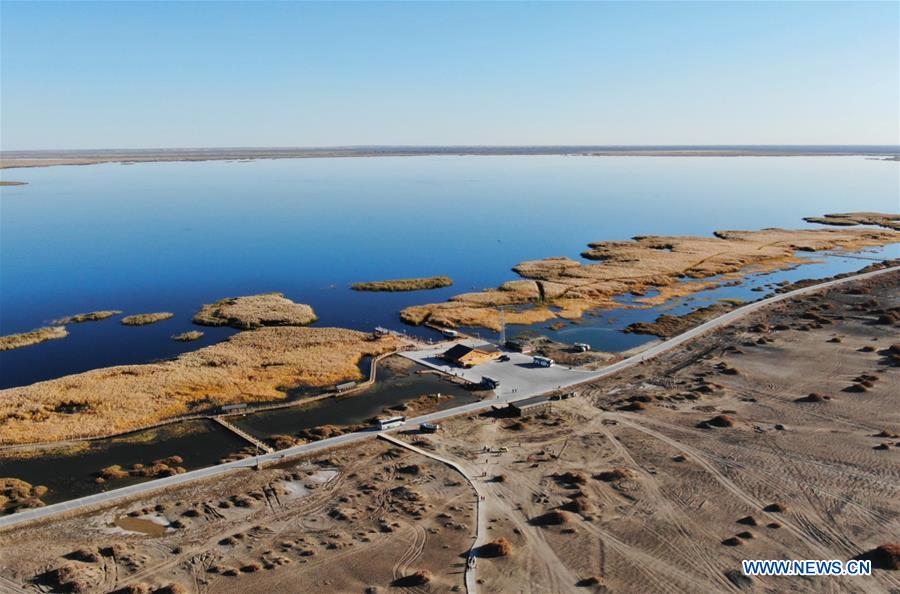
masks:
<path fill-rule="evenodd" d="M 0 391 L 0 443 L 130 431 L 190 405 L 280 400 L 284 388 L 362 379 L 357 364 L 397 346 L 342 328 L 261 328 L 171 361 L 96 369 Z M 63 403 L 84 406 L 58 412 Z M 59 409 L 62 410 L 62 409 Z"/>

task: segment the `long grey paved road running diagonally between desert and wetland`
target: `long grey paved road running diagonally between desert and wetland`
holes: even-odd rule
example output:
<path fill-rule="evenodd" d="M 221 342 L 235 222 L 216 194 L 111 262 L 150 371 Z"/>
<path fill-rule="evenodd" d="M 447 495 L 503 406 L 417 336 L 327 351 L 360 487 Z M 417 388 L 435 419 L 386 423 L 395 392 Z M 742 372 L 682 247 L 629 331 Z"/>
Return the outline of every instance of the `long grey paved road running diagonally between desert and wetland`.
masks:
<path fill-rule="evenodd" d="M 734 309 L 722 316 L 715 318 L 714 320 L 710 320 L 704 324 L 697 326 L 692 330 L 688 330 L 684 334 L 680 334 L 674 338 L 670 338 L 664 342 L 656 344 L 641 353 L 634 355 L 633 357 L 629 357 L 627 359 L 623 359 L 618 363 L 614 363 L 604 369 L 594 372 L 594 373 L 584 373 L 580 372 L 580 381 L 592 381 L 601 377 L 605 377 L 608 375 L 612 375 L 623 369 L 627 369 L 628 367 L 632 367 L 634 365 L 639 365 L 640 363 L 651 359 L 657 355 L 670 351 L 685 342 L 692 340 L 701 334 L 709 332 L 710 330 L 714 330 L 716 328 L 725 326 L 738 320 L 748 314 L 751 314 L 755 311 L 758 311 L 764 307 L 769 305 L 779 303 L 781 301 L 785 301 L 787 299 L 791 299 L 793 297 L 799 297 L 801 295 L 806 295 L 809 293 L 815 293 L 817 291 L 821 291 L 822 289 L 826 289 L 829 287 L 834 287 L 837 285 L 841 285 L 847 282 L 867 279 L 875 276 L 879 276 L 882 274 L 888 274 L 891 272 L 900 271 L 900 266 L 894 266 L 891 268 L 883 268 L 881 270 L 875 270 L 872 272 L 867 272 L 864 274 L 858 274 L 849 276 L 842 279 L 837 279 L 833 281 L 827 281 L 824 283 L 819 283 L 817 285 L 812 285 L 810 287 L 806 287 L 803 289 L 797 289 L 795 291 L 790 291 L 788 293 L 783 293 L 781 295 L 775 295 L 773 297 L 769 297 L 767 299 L 763 299 L 761 301 L 757 301 L 755 303 L 751 303 L 748 305 L 744 305 L 737 309 Z M 407 420 L 406 424 L 399 427 L 398 430 L 409 429 L 410 427 L 416 426 L 419 423 L 425 422 L 437 422 L 449 417 L 462 415 L 462 414 L 471 414 L 480 412 L 484 409 L 490 408 L 496 404 L 504 404 L 513 402 L 516 400 L 520 400 L 525 397 L 526 394 L 523 393 L 513 393 L 507 395 L 501 395 L 499 398 L 491 399 L 491 400 L 483 400 L 480 402 L 473 402 L 470 404 L 466 404 L 463 406 L 458 406 L 455 408 L 434 412 L 431 414 L 423 415 L 420 417 L 412 418 Z M 336 446 L 342 446 L 354 442 L 361 441 L 363 439 L 370 439 L 377 435 L 375 430 L 371 431 L 360 431 L 357 433 L 348 433 L 345 435 L 339 435 L 337 437 L 332 437 L 329 439 L 323 439 L 321 441 L 316 441 L 313 443 L 307 443 L 300 446 L 295 446 L 292 448 L 287 448 L 284 450 L 280 450 L 273 454 L 266 454 L 264 456 L 259 456 L 257 459 L 260 463 L 273 463 L 281 461 L 285 458 L 293 458 L 297 456 L 305 456 L 318 451 L 322 451 L 328 448 L 333 448 Z M 219 464 L 217 466 L 210 466 L 209 468 L 201 468 L 199 470 L 192 470 L 191 472 L 186 472 L 184 474 L 179 474 L 175 476 L 170 476 L 162 479 L 156 479 L 152 481 L 147 481 L 145 483 L 140 483 L 137 485 L 130 485 L 128 487 L 123 487 L 121 489 L 114 489 L 112 491 L 107 491 L 105 493 L 96 493 L 94 495 L 88 495 L 87 497 L 82 497 L 80 499 L 72 499 L 71 501 L 64 501 L 62 503 L 55 503 L 53 505 L 48 505 L 46 507 L 38 508 L 38 509 L 30 509 L 24 512 L 20 512 L 17 514 L 11 514 L 8 516 L 0 517 L 0 531 L 9 529 L 14 526 L 20 526 L 22 524 L 28 522 L 34 522 L 37 520 L 46 520 L 48 518 L 52 518 L 59 514 L 72 513 L 76 511 L 85 511 L 95 506 L 107 506 L 113 503 L 118 503 L 130 498 L 135 498 L 138 496 L 143 496 L 153 491 L 157 491 L 160 489 L 168 489 L 174 487 L 176 485 L 182 485 L 191 481 L 195 481 L 198 479 L 205 479 L 214 476 L 218 476 L 220 474 L 224 474 L 226 472 L 234 471 L 238 468 L 249 468 L 253 467 L 256 463 L 257 459 L 245 459 L 238 460 L 235 462 L 229 462 L 226 464 Z"/>

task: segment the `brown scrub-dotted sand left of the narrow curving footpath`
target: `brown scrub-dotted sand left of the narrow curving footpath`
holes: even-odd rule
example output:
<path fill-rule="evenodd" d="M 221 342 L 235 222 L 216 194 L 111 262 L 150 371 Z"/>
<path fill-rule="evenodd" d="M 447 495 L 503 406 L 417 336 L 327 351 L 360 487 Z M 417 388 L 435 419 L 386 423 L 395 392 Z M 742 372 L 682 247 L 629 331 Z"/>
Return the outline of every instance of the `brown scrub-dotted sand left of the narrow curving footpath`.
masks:
<path fill-rule="evenodd" d="M 372 441 L 4 535 L 0 567 L 33 591 L 385 591 L 420 571 L 428 592 L 459 591 L 474 498 L 443 464 Z M 123 517 L 177 529 L 129 532 Z"/>

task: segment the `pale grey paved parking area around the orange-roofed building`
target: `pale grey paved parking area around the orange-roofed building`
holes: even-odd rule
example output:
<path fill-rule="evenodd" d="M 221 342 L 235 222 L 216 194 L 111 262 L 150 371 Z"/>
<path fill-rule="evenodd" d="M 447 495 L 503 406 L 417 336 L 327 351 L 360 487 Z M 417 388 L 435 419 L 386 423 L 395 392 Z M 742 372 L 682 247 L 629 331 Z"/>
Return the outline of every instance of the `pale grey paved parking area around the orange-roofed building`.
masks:
<path fill-rule="evenodd" d="M 498 380 L 500 386 L 494 392 L 497 398 L 504 399 L 518 399 L 543 394 L 600 376 L 598 372 L 578 371 L 560 365 L 538 367 L 532 363 L 531 355 L 506 350 L 503 350 L 503 354 L 506 356 L 504 358 L 508 357 L 508 361 L 488 361 L 468 369 L 441 359 L 441 353 L 456 344 L 477 346 L 483 343 L 484 341 L 480 340 L 459 340 L 445 342 L 427 349 L 405 351 L 400 354 L 416 363 L 448 375 L 465 378 L 470 382 L 478 383 L 485 376 Z"/>

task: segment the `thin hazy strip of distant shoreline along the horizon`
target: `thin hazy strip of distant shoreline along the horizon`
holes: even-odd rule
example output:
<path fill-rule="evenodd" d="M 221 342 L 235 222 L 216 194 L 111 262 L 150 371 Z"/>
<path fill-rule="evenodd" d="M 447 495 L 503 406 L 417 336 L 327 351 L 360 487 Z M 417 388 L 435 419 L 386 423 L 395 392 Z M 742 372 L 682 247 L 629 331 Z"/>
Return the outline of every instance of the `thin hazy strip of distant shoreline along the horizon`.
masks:
<path fill-rule="evenodd" d="M 348 157 L 426 156 L 581 156 L 581 157 L 847 157 L 900 159 L 900 146 L 356 146 L 330 148 L 210 148 L 2 151 L 0 169 L 148 163 Z"/>

